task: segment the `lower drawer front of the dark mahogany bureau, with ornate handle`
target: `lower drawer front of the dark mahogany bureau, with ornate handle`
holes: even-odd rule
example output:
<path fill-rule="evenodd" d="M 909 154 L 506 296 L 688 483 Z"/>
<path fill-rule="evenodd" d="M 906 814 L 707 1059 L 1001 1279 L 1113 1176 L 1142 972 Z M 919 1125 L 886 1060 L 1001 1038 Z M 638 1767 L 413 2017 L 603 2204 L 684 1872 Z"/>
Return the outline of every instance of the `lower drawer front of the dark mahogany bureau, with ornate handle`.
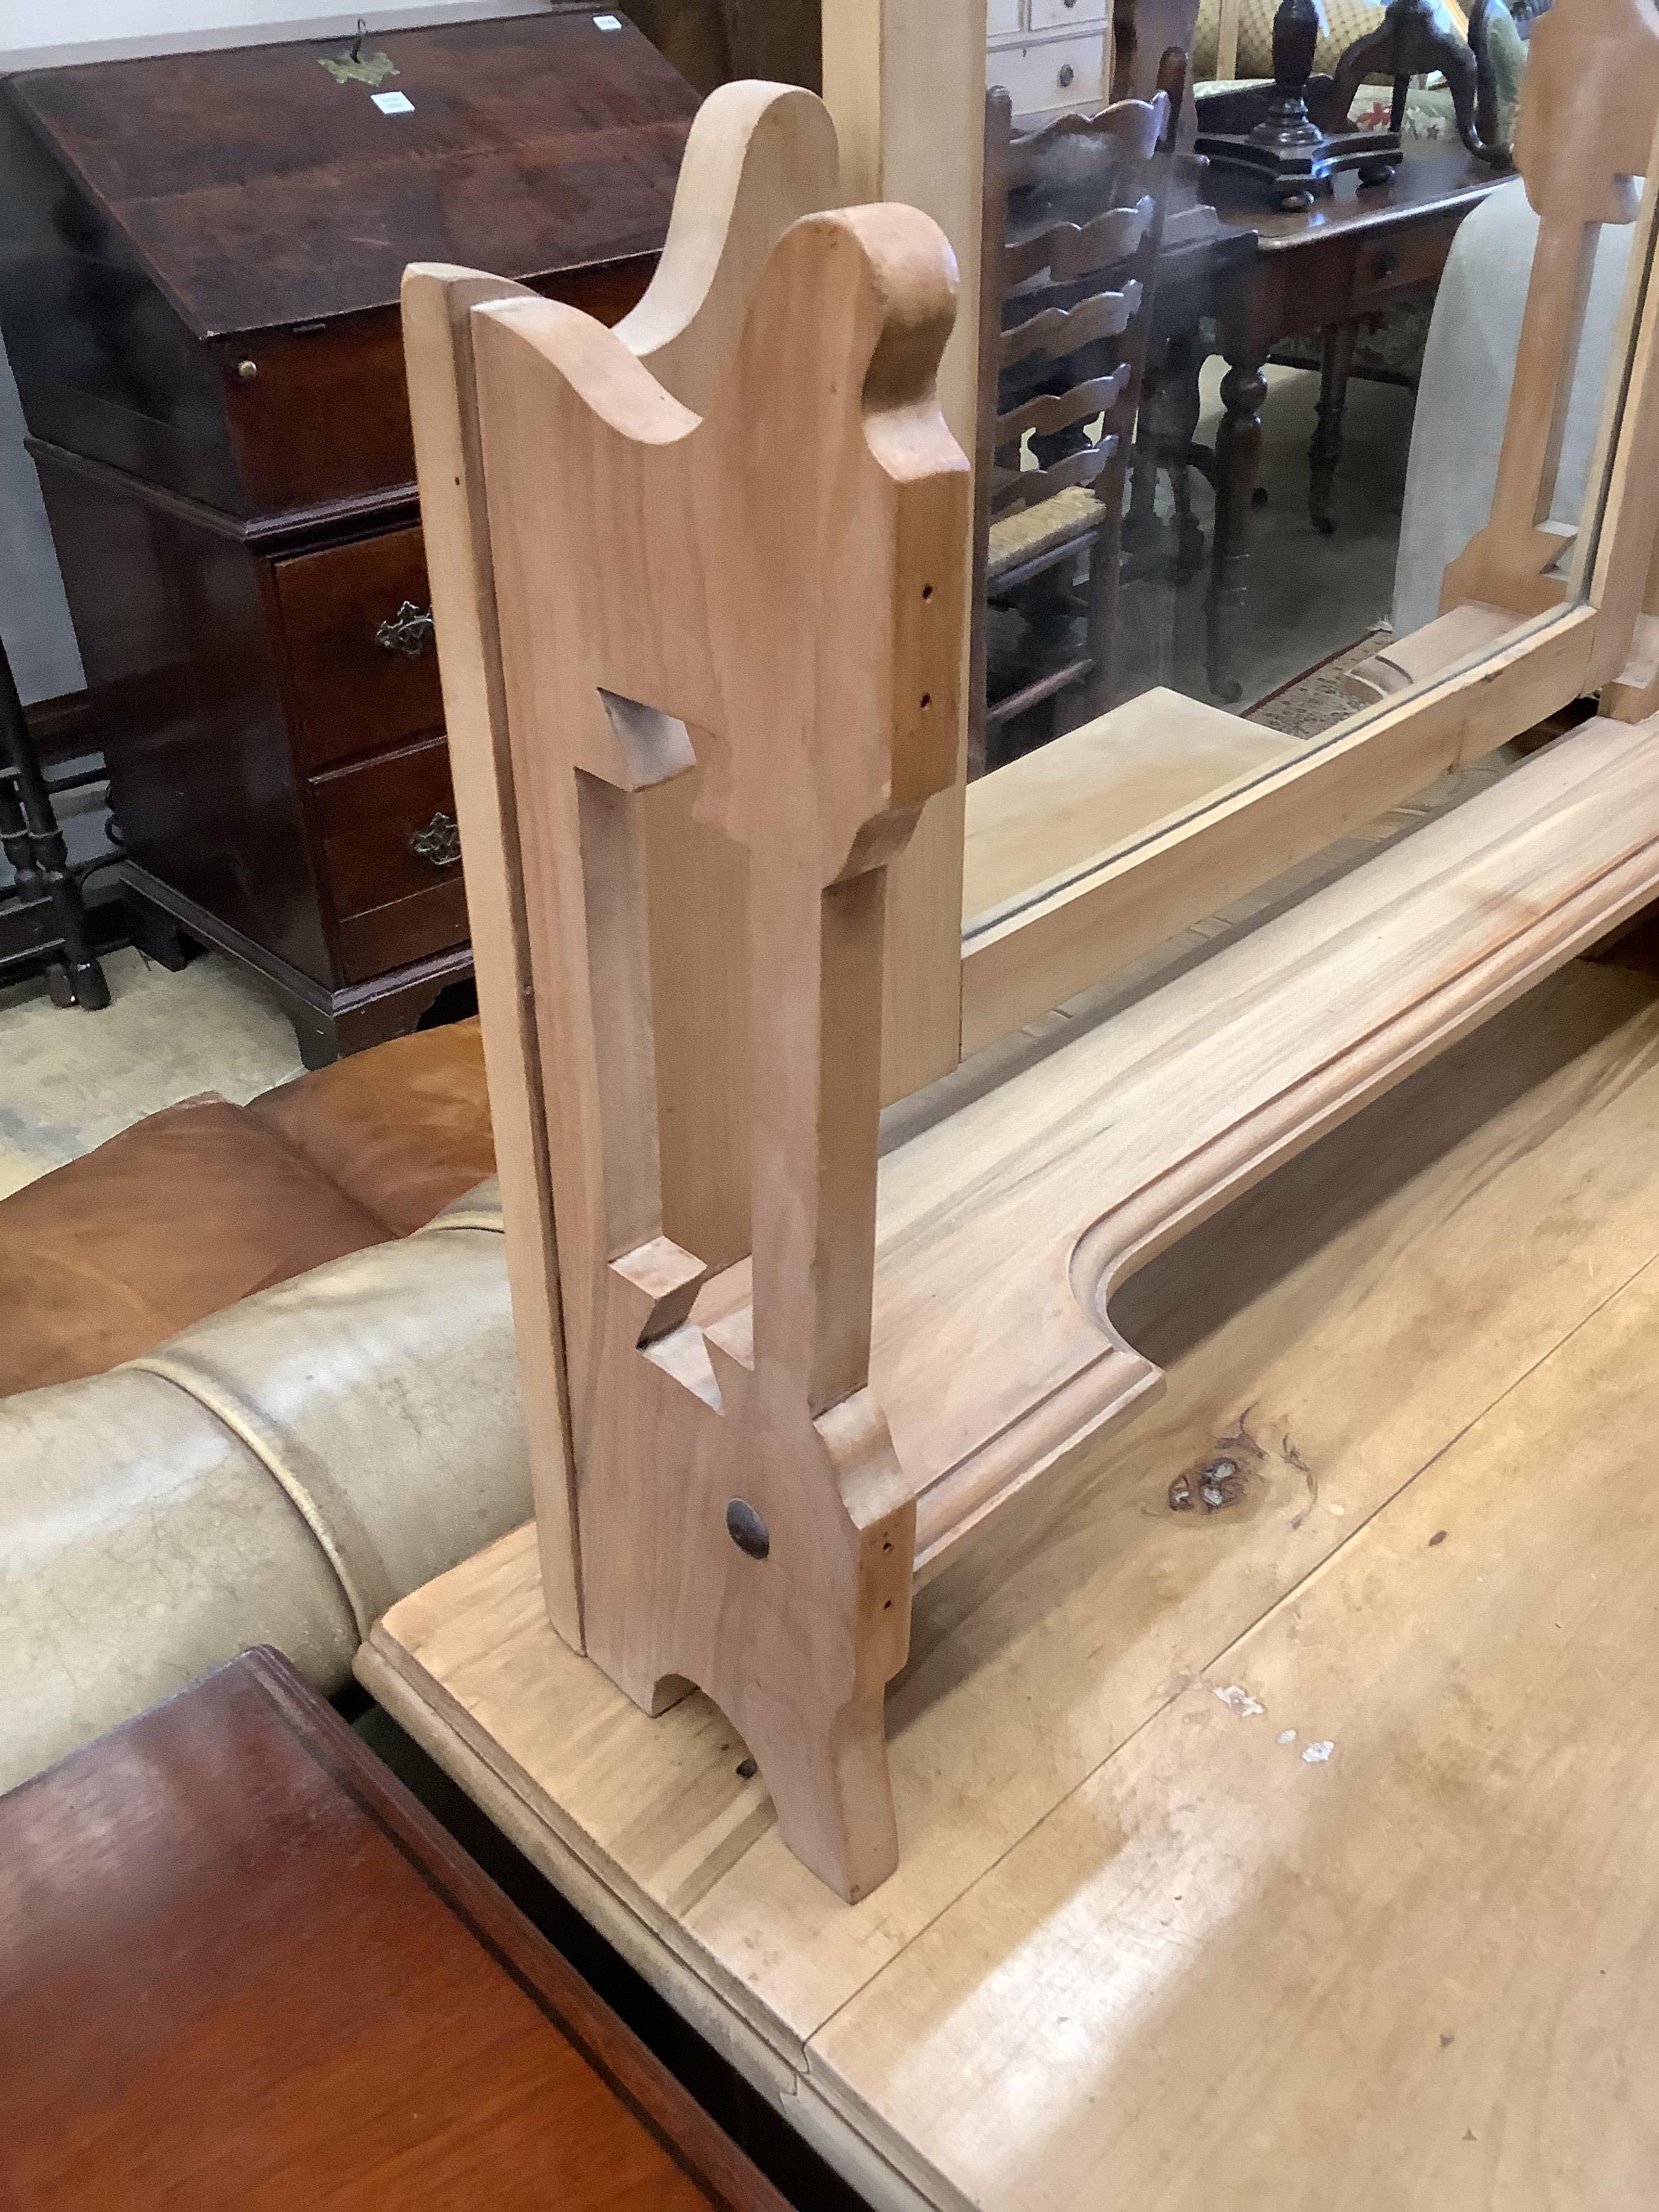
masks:
<path fill-rule="evenodd" d="M 460 945 L 467 891 L 445 739 L 314 776 L 310 794 L 347 982 Z"/>

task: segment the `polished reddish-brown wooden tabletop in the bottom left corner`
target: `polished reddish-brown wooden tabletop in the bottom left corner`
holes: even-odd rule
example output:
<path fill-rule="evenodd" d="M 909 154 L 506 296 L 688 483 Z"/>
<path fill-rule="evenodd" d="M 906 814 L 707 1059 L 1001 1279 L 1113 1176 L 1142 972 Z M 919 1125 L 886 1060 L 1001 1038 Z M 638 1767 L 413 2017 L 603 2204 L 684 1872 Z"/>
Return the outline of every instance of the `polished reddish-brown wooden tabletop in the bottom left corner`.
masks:
<path fill-rule="evenodd" d="M 274 1652 L 0 1801 L 0 2203 L 785 2212 Z"/>

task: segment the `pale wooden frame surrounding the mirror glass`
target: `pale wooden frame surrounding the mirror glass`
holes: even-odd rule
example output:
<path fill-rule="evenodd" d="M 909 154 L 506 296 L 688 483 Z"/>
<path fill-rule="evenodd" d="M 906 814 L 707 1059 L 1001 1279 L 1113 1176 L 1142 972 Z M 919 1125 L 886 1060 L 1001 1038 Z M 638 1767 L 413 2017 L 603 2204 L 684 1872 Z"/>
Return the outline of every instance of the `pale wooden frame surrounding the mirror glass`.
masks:
<path fill-rule="evenodd" d="M 891 192 L 940 221 L 962 270 L 953 345 L 978 296 L 982 13 L 980 0 L 865 0 L 825 20 L 825 100 L 849 197 Z M 929 69 L 922 55 L 942 62 Z M 1644 307 L 1655 212 L 1652 204 L 1637 210 L 1628 184 L 1648 170 L 1655 113 L 1659 13 L 1648 0 L 1568 0 L 1540 20 L 1515 166 L 1542 221 L 1498 493 L 1489 526 L 1447 571 L 1442 619 L 1387 648 L 1394 688 L 1407 697 L 1380 699 L 1294 768 L 1219 794 L 1135 852 L 1079 869 L 982 927 L 964 914 L 962 847 L 973 816 L 989 812 L 998 772 L 967 783 L 964 732 L 956 792 L 931 803 L 894 869 L 887 1099 L 949 1073 L 1573 699 L 1601 692 L 1604 712 L 1619 719 L 1655 710 L 1659 571 L 1650 575 L 1652 518 L 1641 491 L 1657 436 L 1655 310 Z M 845 148 L 856 148 L 856 166 Z M 1546 515 L 1599 223 L 1635 223 L 1637 232 L 1613 356 L 1628 363 L 1630 380 L 1606 396 L 1586 498 L 1595 526 L 1573 544 Z M 960 440 L 973 422 L 969 378 L 971 365 L 947 352 L 940 396 Z M 1548 573 L 1568 551 L 1568 573 Z"/>

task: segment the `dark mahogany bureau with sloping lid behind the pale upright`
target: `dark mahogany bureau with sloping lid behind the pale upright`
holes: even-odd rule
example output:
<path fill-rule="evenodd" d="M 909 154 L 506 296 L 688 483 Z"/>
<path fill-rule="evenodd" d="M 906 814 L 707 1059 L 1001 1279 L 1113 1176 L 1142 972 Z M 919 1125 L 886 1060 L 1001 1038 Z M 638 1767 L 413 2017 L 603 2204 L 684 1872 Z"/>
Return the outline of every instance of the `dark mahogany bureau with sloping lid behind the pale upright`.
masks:
<path fill-rule="evenodd" d="M 471 971 L 403 268 L 615 321 L 695 106 L 588 7 L 0 88 L 0 327 L 128 891 L 257 969 L 312 1066 Z"/>

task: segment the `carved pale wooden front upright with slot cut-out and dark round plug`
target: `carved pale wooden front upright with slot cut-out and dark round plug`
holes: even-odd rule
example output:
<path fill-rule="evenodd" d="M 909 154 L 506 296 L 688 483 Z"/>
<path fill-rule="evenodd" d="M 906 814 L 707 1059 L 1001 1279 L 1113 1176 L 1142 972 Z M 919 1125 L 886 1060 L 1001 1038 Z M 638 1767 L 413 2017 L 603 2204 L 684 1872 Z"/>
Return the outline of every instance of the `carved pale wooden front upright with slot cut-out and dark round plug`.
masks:
<path fill-rule="evenodd" d="M 796 223 L 701 416 L 573 307 L 473 319 L 529 909 L 555 918 L 533 956 L 586 1648 L 648 1708 L 706 1688 L 845 1896 L 896 1854 L 914 1506 L 867 1387 L 880 947 L 887 863 L 956 772 L 953 279 L 909 208 Z M 752 1296 L 708 1327 L 708 1254 L 664 1230 L 672 887 L 646 830 L 692 752 L 748 867 L 748 942 L 719 953 L 754 1068 Z"/>

